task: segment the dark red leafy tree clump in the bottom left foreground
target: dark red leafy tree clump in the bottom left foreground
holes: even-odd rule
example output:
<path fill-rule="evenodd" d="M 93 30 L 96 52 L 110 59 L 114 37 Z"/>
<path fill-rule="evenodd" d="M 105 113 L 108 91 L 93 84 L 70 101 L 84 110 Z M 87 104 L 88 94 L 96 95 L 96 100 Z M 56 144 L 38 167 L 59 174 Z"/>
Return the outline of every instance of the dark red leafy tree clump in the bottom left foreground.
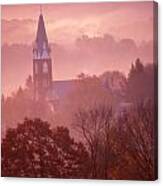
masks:
<path fill-rule="evenodd" d="M 64 127 L 25 119 L 2 141 L 2 176 L 86 178 L 89 157 Z"/>

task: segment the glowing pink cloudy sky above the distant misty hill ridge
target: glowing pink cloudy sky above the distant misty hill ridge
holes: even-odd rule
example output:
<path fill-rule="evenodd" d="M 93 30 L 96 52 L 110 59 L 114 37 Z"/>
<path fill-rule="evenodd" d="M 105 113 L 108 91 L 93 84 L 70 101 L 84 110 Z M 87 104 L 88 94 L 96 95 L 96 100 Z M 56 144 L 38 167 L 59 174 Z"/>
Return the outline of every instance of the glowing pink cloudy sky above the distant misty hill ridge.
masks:
<path fill-rule="evenodd" d="M 42 6 L 49 40 L 64 43 L 82 34 L 97 36 L 104 33 L 136 41 L 151 40 L 152 9 L 152 2 Z M 2 6 L 3 43 L 31 43 L 35 39 L 39 10 L 39 5 Z"/>

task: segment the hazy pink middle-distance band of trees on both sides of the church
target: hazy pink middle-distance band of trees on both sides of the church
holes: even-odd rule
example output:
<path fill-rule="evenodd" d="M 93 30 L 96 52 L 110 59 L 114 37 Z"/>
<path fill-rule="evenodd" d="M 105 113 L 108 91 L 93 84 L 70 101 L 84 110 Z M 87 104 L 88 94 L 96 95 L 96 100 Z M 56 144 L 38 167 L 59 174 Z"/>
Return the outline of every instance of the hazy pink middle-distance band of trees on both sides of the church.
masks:
<path fill-rule="evenodd" d="M 8 97 L 2 95 L 2 132 L 5 133 L 6 128 L 15 127 L 15 124 L 22 122 L 25 117 L 40 118 L 52 123 L 55 120 L 54 112 L 56 114 L 59 109 L 62 109 L 61 112 L 65 108 L 66 112 L 73 109 L 74 112 L 78 107 L 95 102 L 109 102 L 115 109 L 120 103 L 142 102 L 148 99 L 154 102 L 155 68 L 155 64 L 144 66 L 137 59 L 132 64 L 128 77 L 119 71 L 108 71 L 99 77 L 80 74 L 76 80 L 76 88 L 59 100 L 60 105 L 55 105 L 55 111 L 46 100 L 33 99 L 33 81 L 29 76 L 25 88 L 19 87 Z"/>

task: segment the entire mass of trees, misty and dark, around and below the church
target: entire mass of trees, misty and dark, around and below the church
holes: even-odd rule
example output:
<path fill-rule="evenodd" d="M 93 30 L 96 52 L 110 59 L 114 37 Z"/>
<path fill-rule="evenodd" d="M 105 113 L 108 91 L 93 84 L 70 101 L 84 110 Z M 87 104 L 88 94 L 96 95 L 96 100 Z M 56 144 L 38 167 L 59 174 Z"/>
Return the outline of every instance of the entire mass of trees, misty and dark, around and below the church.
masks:
<path fill-rule="evenodd" d="M 31 76 L 2 95 L 2 176 L 154 180 L 157 65 L 75 81 L 53 106 L 33 99 Z"/>

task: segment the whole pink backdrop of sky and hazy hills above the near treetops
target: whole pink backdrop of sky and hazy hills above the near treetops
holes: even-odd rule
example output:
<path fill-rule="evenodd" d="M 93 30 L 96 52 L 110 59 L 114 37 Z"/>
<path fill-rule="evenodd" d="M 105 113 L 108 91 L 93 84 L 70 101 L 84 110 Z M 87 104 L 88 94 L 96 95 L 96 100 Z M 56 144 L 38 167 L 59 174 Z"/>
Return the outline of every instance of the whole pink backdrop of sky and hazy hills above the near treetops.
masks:
<path fill-rule="evenodd" d="M 145 63 L 152 62 L 153 2 L 49 4 L 42 9 L 49 42 L 55 43 L 54 79 L 74 78 L 81 71 L 100 74 L 118 69 L 126 73 L 139 56 Z M 31 44 L 39 14 L 39 5 L 2 6 L 2 83 L 6 93 L 32 74 Z M 21 62 L 23 56 L 26 59 Z M 22 78 L 15 74 L 16 64 Z"/>

